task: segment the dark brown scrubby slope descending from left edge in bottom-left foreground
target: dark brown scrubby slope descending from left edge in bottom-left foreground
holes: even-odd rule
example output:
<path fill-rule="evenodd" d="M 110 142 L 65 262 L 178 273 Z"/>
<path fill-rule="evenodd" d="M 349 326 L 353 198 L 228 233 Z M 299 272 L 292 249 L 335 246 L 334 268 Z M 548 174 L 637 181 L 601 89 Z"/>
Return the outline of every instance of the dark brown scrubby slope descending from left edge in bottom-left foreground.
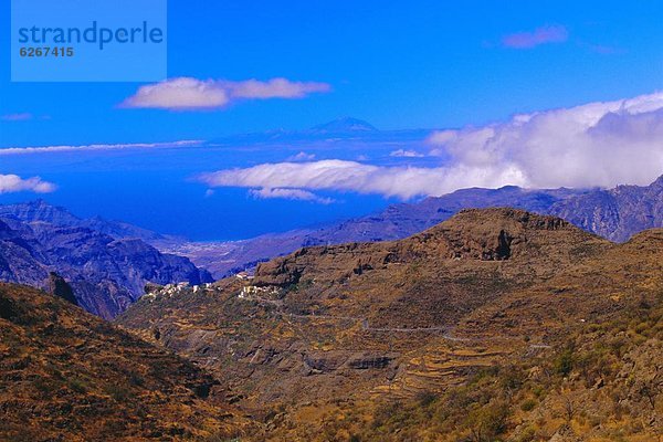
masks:
<path fill-rule="evenodd" d="M 228 440 L 218 380 L 72 304 L 0 284 L 0 440 Z"/>

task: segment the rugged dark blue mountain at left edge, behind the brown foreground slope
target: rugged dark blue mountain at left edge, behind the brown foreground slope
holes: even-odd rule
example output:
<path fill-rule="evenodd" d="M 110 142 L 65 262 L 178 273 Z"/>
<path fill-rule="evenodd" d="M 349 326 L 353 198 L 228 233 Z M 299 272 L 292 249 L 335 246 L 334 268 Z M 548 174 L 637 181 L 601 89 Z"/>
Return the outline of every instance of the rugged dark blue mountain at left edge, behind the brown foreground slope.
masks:
<path fill-rule="evenodd" d="M 66 225 L 62 212 L 52 214 L 48 219 L 61 225 L 0 218 L 0 281 L 43 288 L 49 273 L 56 272 L 71 284 L 78 305 L 105 318 L 138 298 L 147 282 L 211 281 L 186 257 L 160 253 L 139 239 Z"/>

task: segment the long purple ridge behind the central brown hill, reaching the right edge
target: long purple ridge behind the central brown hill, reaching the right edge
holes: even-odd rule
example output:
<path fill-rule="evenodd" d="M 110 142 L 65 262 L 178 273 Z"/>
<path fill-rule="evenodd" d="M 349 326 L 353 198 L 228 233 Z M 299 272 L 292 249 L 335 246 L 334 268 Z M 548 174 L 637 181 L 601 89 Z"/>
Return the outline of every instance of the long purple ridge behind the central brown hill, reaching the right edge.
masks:
<path fill-rule="evenodd" d="M 663 227 L 663 177 L 648 187 L 620 186 L 610 190 L 529 190 L 515 186 L 462 189 L 415 203 L 390 206 L 380 213 L 320 229 L 302 229 L 231 243 L 157 241 L 155 245 L 186 255 L 215 277 L 222 277 L 299 248 L 399 240 L 429 229 L 462 209 L 491 207 L 558 215 L 588 232 L 623 242 L 642 230 Z"/>

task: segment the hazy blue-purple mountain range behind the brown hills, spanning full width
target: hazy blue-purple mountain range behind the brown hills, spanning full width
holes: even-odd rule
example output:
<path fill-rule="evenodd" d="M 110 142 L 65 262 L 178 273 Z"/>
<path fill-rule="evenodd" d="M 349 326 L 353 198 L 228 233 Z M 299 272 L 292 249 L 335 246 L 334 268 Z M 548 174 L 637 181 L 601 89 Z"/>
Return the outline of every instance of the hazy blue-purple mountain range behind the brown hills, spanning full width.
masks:
<path fill-rule="evenodd" d="M 371 130 L 361 122 L 348 124 Z M 112 318 L 140 297 L 148 282 L 207 283 L 304 246 L 399 240 L 462 209 L 490 207 L 555 214 L 623 242 L 663 227 L 663 177 L 646 187 L 614 189 L 462 189 L 318 229 L 221 243 L 188 242 L 98 217 L 81 219 L 43 200 L 0 206 L 0 280 L 45 287 L 49 273 L 56 272 L 71 283 L 81 306 Z"/>

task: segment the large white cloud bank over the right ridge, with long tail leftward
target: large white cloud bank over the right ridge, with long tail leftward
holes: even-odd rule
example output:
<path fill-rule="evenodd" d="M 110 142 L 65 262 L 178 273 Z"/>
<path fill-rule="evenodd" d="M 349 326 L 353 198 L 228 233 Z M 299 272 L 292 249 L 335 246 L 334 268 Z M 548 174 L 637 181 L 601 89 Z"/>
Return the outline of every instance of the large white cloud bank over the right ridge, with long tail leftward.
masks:
<path fill-rule="evenodd" d="M 410 199 L 467 187 L 648 185 L 663 173 L 663 93 L 516 115 L 506 123 L 431 134 L 440 167 L 345 160 L 264 164 L 206 173 L 210 187 L 354 191 Z M 407 158 L 403 159 L 403 161 Z M 292 198 L 283 193 L 281 198 Z"/>

